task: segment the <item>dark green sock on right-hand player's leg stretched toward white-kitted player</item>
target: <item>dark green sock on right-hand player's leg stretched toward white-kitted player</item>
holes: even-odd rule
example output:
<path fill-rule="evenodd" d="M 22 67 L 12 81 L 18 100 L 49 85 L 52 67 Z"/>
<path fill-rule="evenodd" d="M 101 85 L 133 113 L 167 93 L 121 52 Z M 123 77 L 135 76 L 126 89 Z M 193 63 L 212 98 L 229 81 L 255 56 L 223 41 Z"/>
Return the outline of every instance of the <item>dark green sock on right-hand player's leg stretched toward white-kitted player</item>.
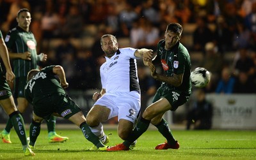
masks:
<path fill-rule="evenodd" d="M 133 129 L 127 140 L 125 140 L 123 143 L 126 147 L 129 147 L 131 143 L 133 143 L 135 140 L 137 140 L 145 131 L 147 131 L 148 126 L 150 124 L 150 120 L 141 119 L 138 121 L 137 126 Z"/>

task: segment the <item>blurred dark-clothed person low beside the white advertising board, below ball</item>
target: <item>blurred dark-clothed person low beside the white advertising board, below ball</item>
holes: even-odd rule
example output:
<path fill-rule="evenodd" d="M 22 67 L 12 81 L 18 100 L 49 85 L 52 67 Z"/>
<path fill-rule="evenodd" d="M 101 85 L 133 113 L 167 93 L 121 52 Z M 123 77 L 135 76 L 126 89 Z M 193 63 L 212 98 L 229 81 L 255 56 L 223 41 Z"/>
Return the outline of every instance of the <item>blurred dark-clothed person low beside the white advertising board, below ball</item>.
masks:
<path fill-rule="evenodd" d="M 189 106 L 187 113 L 187 129 L 193 124 L 194 129 L 211 129 L 212 126 L 212 103 L 205 99 L 202 89 L 196 91 L 195 102 Z"/>

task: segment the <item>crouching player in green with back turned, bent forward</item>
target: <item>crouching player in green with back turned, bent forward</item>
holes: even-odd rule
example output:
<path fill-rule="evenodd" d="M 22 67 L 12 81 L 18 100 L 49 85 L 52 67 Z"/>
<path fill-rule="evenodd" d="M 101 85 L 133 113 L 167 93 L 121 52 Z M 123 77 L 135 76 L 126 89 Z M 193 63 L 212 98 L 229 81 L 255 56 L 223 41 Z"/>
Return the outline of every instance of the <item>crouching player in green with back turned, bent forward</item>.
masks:
<path fill-rule="evenodd" d="M 68 119 L 79 126 L 87 140 L 98 149 L 104 149 L 105 145 L 100 142 L 86 124 L 86 119 L 79 106 L 65 93 L 64 89 L 67 87 L 65 71 L 61 66 L 47 66 L 40 71 L 38 69 L 29 71 L 28 84 L 25 87 L 25 98 L 33 105 L 33 120 L 29 128 L 29 146 L 32 149 L 35 147 L 42 120 L 49 120 L 51 115 L 55 115 Z"/>

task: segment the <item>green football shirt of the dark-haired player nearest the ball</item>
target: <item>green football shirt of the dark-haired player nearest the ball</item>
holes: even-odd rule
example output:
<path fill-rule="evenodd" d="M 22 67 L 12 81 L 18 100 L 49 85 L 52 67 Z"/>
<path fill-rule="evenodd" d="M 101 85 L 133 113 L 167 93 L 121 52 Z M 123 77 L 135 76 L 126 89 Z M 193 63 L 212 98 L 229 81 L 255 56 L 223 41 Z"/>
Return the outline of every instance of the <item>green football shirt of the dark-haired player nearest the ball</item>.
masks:
<path fill-rule="evenodd" d="M 161 61 L 165 75 L 173 76 L 173 73 L 176 75 L 183 73 L 184 75 L 182 84 L 179 87 L 167 85 L 164 82 L 163 85 L 167 85 L 170 89 L 191 93 L 191 59 L 188 50 L 180 42 L 178 42 L 172 50 L 165 50 L 164 45 L 165 40 L 161 40 L 157 44 L 156 61 Z"/>

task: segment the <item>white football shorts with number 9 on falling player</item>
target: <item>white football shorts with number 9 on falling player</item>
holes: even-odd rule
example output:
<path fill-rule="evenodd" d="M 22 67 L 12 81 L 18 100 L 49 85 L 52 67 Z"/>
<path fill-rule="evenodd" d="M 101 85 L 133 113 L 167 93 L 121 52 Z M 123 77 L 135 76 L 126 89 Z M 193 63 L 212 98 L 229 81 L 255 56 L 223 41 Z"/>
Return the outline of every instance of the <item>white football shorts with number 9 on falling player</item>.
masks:
<path fill-rule="evenodd" d="M 108 119 L 118 116 L 120 119 L 136 122 L 140 112 L 140 94 L 132 92 L 106 92 L 94 105 L 106 106 L 110 109 Z"/>

